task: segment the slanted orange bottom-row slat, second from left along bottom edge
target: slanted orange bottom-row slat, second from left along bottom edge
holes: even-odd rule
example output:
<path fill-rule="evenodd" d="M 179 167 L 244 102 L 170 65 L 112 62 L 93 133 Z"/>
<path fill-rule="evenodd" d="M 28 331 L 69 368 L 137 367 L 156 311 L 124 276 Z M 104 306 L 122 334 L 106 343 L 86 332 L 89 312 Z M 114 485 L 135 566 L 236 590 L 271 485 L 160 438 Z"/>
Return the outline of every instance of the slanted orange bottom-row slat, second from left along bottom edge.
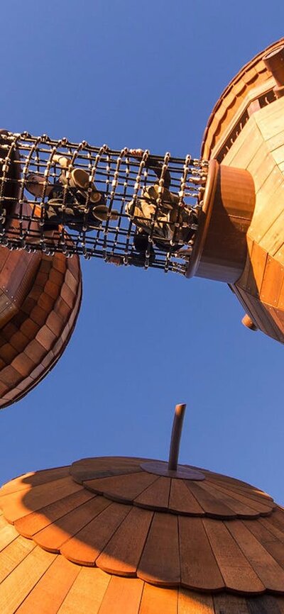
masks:
<path fill-rule="evenodd" d="M 79 572 L 79 566 L 63 557 L 55 557 L 20 605 L 17 614 L 56 614 Z"/>

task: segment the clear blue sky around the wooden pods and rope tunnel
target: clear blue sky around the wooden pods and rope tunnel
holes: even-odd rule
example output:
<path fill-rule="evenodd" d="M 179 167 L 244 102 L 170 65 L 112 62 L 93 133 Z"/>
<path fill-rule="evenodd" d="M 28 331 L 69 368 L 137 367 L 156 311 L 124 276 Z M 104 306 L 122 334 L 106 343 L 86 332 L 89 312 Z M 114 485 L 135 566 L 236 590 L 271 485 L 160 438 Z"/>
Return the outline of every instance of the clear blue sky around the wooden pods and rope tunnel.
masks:
<path fill-rule="evenodd" d="M 1 5 L 1 125 L 198 156 L 215 101 L 284 34 L 283 0 L 10 0 Z M 0 414 L 0 481 L 75 459 L 180 460 L 284 503 L 284 347 L 241 325 L 226 284 L 82 262 L 75 334 L 53 372 Z"/>

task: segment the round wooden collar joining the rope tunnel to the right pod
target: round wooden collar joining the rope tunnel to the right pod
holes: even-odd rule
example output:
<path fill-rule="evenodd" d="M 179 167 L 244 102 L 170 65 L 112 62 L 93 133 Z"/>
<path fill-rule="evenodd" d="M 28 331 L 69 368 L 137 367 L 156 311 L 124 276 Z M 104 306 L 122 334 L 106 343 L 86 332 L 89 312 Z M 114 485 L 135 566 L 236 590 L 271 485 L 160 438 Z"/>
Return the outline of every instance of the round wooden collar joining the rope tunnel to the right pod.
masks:
<path fill-rule="evenodd" d="M 255 206 L 253 178 L 246 169 L 210 160 L 202 215 L 187 277 L 233 283 L 244 270 L 246 233 Z"/>

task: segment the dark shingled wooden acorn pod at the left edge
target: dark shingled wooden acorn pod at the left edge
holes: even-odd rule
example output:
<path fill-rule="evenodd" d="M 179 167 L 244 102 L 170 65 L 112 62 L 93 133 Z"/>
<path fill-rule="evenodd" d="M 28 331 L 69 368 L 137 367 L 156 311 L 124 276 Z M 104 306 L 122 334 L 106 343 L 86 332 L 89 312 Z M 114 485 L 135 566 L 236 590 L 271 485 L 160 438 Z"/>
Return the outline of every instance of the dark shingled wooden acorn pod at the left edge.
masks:
<path fill-rule="evenodd" d="M 6 211 L 19 207 L 21 164 L 16 149 L 5 165 L 6 131 L 1 130 L 2 236 L 11 232 Z M 5 209 L 5 213 L 3 208 Z M 27 213 L 21 204 L 22 215 Z M 18 221 L 18 232 L 23 221 Z M 35 225 L 35 224 L 34 224 Z M 0 247 L 0 408 L 24 396 L 43 379 L 65 350 L 80 309 L 82 279 L 77 256 Z"/>

